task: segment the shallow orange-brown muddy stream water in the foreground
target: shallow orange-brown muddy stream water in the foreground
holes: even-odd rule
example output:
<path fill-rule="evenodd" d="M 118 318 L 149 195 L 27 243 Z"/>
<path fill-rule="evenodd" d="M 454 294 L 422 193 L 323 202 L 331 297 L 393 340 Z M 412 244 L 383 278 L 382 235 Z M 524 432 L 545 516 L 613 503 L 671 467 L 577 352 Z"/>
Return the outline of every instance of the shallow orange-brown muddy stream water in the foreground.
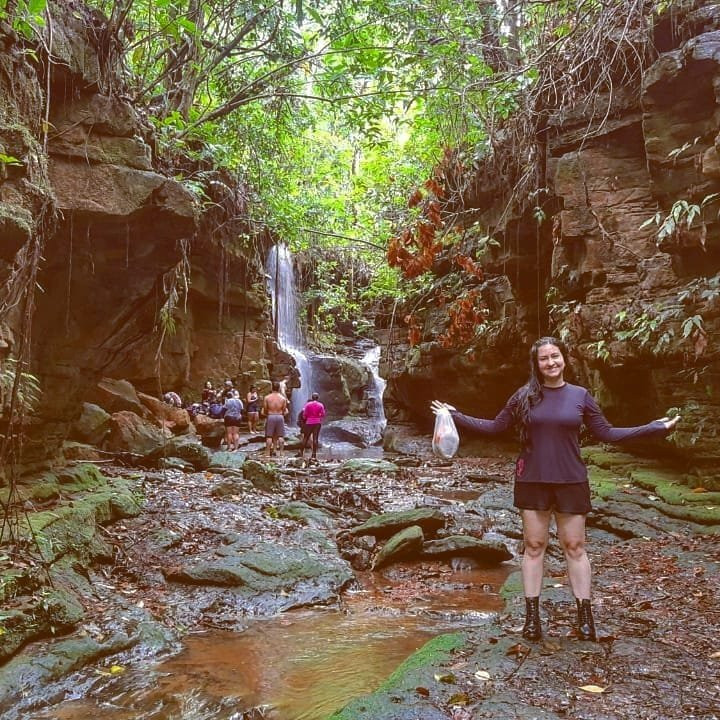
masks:
<path fill-rule="evenodd" d="M 499 610 L 495 591 L 508 571 L 443 571 L 432 586 L 409 580 L 410 565 L 392 578 L 368 575 L 340 611 L 295 611 L 252 621 L 242 633 L 190 635 L 174 658 L 103 676 L 89 692 L 85 686 L 82 700 L 34 717 L 239 720 L 265 706 L 253 717 L 324 720 L 377 688 L 430 638 Z"/>

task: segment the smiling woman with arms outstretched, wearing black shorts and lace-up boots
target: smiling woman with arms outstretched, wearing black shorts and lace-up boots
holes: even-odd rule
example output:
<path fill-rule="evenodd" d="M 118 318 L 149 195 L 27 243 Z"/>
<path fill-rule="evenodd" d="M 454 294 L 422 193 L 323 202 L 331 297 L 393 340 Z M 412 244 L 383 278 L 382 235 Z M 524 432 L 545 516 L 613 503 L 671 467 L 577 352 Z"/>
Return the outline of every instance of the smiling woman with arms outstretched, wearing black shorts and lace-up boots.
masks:
<path fill-rule="evenodd" d="M 469 430 L 484 434 L 497 434 L 511 426 L 520 430 L 522 449 L 515 463 L 514 505 L 520 510 L 523 525 L 523 637 L 528 640 L 542 637 L 539 600 L 552 515 L 577 603 L 577 634 L 582 640 L 596 639 L 590 606 L 590 561 L 585 550 L 585 517 L 592 508 L 587 468 L 580 455 L 581 426 L 602 442 L 620 442 L 666 435 L 680 419 L 678 415 L 637 427 L 613 427 L 585 388 L 565 382 L 567 357 L 567 348 L 560 340 L 537 340 L 530 349 L 529 380 L 494 420 L 463 415 L 437 400 L 432 403 L 435 412 L 447 408 L 455 422 Z"/>

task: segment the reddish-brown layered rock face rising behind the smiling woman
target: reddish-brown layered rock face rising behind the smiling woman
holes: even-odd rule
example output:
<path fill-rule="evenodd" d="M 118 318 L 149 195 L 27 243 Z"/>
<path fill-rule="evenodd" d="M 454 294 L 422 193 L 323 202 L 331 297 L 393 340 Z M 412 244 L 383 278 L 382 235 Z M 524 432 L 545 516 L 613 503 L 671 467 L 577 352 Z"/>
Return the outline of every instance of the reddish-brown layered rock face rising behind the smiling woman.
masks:
<path fill-rule="evenodd" d="M 488 329 L 452 350 L 432 337 L 437 331 L 415 347 L 406 328 L 389 332 L 381 369 L 390 419 L 427 419 L 436 397 L 493 417 L 527 378 L 531 341 L 550 330 L 569 342 L 576 379 L 611 422 L 641 424 L 678 407 L 680 429 L 654 451 L 664 445 L 714 472 L 720 15 L 701 7 L 676 21 L 659 21 L 661 52 L 633 84 L 596 97 L 588 111 L 578 101 L 550 114 L 534 168 L 540 225 L 532 208 L 498 222 L 502 180 L 490 165 L 465 171 L 457 186 L 467 189 L 449 209 L 464 208 L 498 243 L 483 256 L 478 283 Z M 688 223 L 693 205 L 698 215 Z M 659 232 L 673 212 L 673 230 Z M 658 224 L 643 226 L 656 214 Z M 446 320 L 444 309 L 431 311 L 426 327 Z"/>

